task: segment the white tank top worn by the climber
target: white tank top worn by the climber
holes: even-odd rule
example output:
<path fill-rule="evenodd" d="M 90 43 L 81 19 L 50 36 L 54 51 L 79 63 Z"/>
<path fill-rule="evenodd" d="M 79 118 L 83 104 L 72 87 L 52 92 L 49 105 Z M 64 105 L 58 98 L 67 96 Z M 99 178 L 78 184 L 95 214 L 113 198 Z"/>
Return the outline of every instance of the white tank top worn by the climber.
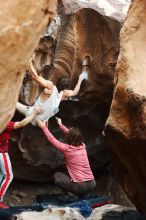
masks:
<path fill-rule="evenodd" d="M 42 101 L 39 96 L 35 104 L 29 107 L 28 115 L 30 115 L 34 111 L 34 108 L 40 108 L 43 110 L 43 112 L 42 114 L 37 115 L 31 123 L 33 125 L 36 125 L 37 119 L 48 121 L 49 118 L 54 116 L 59 111 L 59 104 L 62 95 L 63 91 L 61 93 L 58 93 L 56 86 L 54 86 L 51 96 L 46 101 Z"/>

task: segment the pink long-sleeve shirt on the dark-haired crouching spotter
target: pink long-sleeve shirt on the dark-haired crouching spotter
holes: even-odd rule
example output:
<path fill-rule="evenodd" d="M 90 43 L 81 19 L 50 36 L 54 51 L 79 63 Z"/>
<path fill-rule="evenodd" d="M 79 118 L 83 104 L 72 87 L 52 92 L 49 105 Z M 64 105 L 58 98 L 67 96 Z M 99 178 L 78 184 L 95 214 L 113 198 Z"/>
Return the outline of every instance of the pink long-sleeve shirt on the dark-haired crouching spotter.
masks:
<path fill-rule="evenodd" d="M 69 131 L 69 129 L 62 124 L 60 128 L 65 134 Z M 79 146 L 61 143 L 46 127 L 43 128 L 43 132 L 48 141 L 64 154 L 66 167 L 73 182 L 84 182 L 94 179 L 84 143 Z"/>

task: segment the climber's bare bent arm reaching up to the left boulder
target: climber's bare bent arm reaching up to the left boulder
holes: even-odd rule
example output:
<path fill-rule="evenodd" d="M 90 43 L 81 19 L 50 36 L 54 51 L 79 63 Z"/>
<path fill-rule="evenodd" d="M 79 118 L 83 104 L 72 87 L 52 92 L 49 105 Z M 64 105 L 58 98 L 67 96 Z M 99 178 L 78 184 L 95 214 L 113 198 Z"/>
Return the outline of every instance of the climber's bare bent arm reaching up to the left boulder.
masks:
<path fill-rule="evenodd" d="M 31 73 L 32 78 L 36 82 L 38 82 L 40 84 L 40 86 L 45 87 L 45 88 L 49 87 L 49 89 L 50 89 L 50 84 L 52 85 L 53 83 L 50 80 L 46 80 L 42 76 L 39 76 L 37 74 L 37 71 L 35 70 L 35 68 L 33 66 L 32 60 L 30 60 L 30 70 L 31 70 L 30 73 Z"/>

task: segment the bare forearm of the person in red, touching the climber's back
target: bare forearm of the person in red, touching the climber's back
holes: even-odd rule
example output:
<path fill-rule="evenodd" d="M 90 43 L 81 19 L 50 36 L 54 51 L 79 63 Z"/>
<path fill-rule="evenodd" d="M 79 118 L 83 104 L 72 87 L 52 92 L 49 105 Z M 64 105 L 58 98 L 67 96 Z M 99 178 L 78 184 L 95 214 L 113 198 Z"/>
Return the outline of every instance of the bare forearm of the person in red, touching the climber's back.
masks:
<path fill-rule="evenodd" d="M 41 111 L 39 109 L 35 110 L 31 115 L 29 115 L 27 118 L 23 119 L 22 121 L 15 122 L 14 129 L 22 128 L 25 125 L 27 125 L 29 122 L 31 122 L 36 115 L 40 114 Z"/>

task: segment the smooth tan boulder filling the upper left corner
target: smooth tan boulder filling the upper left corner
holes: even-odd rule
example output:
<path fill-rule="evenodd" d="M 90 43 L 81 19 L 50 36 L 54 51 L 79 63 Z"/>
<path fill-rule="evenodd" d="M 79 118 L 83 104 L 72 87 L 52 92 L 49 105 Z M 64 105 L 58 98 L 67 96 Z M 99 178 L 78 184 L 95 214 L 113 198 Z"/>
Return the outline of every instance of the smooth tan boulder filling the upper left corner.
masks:
<path fill-rule="evenodd" d="M 0 131 L 13 116 L 26 64 L 56 2 L 8 0 L 0 6 Z"/>

